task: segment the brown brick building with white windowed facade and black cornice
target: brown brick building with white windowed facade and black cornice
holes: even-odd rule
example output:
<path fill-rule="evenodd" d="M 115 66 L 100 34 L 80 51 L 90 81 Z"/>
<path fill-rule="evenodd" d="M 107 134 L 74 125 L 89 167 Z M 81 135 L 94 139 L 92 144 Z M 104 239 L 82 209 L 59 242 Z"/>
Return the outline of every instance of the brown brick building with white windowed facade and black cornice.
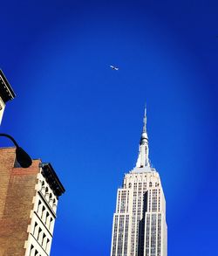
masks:
<path fill-rule="evenodd" d="M 50 163 L 20 168 L 14 148 L 0 149 L 0 255 L 50 255 L 58 197 L 65 189 Z"/>

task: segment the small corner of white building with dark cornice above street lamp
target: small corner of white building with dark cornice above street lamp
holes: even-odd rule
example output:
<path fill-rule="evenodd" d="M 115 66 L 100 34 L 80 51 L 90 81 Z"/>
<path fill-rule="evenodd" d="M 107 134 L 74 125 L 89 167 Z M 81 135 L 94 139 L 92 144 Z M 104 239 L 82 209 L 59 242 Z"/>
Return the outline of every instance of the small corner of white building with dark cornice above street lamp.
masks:
<path fill-rule="evenodd" d="M 6 102 L 13 100 L 15 93 L 11 88 L 8 80 L 5 78 L 2 70 L 0 69 L 0 124 L 3 119 L 3 111 L 6 105 Z"/>

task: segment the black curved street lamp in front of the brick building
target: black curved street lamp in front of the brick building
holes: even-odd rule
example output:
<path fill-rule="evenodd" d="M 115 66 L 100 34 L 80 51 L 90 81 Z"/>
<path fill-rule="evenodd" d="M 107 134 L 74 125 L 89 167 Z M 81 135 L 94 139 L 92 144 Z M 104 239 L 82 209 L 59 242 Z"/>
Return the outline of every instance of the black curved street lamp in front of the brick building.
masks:
<path fill-rule="evenodd" d="M 14 143 L 15 147 L 16 147 L 16 159 L 17 162 L 20 164 L 20 166 L 22 168 L 28 168 L 31 166 L 31 156 L 29 156 L 24 149 L 22 149 L 21 147 L 19 147 L 19 145 L 17 144 L 17 142 L 15 141 L 15 139 L 13 137 L 11 137 L 10 135 L 6 135 L 6 134 L 0 134 L 0 137 L 7 137 L 10 139 L 11 142 Z"/>

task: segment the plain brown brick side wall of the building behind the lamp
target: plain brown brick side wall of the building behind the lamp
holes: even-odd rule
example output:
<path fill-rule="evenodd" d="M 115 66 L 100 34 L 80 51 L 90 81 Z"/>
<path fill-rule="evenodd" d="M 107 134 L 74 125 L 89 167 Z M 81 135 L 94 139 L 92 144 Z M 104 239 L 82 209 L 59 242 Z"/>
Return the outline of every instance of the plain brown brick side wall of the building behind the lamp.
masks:
<path fill-rule="evenodd" d="M 28 169 L 14 168 L 15 149 L 0 149 L 0 255 L 24 256 L 31 223 L 39 160 Z"/>

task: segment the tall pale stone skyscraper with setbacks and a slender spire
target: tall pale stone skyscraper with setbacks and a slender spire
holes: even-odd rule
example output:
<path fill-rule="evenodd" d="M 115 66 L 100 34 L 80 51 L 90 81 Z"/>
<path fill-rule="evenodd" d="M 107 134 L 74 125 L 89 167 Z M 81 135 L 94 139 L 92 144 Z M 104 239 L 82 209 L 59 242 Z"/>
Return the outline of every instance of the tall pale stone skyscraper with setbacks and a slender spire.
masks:
<path fill-rule="evenodd" d="M 145 110 L 136 166 L 117 193 L 111 256 L 167 256 L 165 197 L 148 152 Z"/>

